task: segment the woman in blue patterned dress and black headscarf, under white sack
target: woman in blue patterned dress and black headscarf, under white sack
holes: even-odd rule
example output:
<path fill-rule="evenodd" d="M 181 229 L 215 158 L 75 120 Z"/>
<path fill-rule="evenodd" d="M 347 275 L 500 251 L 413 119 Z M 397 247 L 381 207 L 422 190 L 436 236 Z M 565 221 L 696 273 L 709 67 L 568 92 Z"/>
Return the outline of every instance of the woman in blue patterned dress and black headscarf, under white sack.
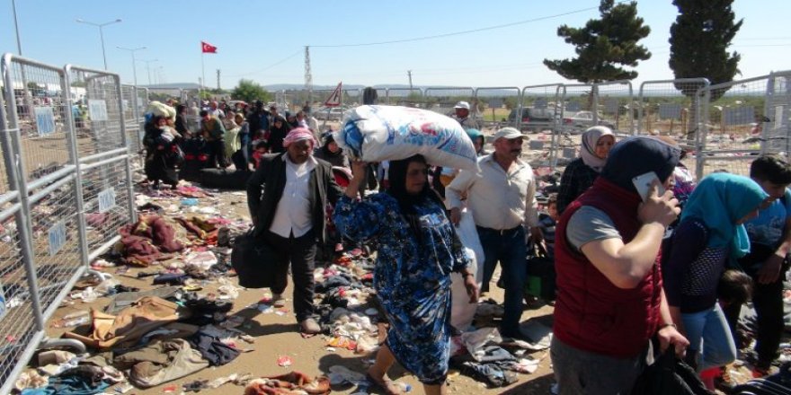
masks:
<path fill-rule="evenodd" d="M 374 288 L 390 329 L 369 368 L 369 381 L 387 394 L 398 393 L 387 379 L 396 360 L 423 383 L 426 394 L 447 393 L 450 356 L 450 273 L 464 276 L 470 303 L 477 301 L 475 276 L 445 215 L 429 187 L 422 155 L 390 162 L 390 188 L 355 200 L 366 171 L 353 162 L 353 179 L 335 206 L 338 231 L 353 241 L 376 241 Z"/>

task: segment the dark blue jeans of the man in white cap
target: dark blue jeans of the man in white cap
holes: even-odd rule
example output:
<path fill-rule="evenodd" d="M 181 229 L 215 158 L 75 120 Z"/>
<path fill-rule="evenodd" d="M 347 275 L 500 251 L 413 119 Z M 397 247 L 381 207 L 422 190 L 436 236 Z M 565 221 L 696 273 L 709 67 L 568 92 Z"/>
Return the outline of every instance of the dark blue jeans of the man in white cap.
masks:
<path fill-rule="evenodd" d="M 502 335 L 516 337 L 520 334 L 525 282 L 528 276 L 525 228 L 519 226 L 511 231 L 494 231 L 478 227 L 478 237 L 484 248 L 484 289 L 488 289 L 497 262 L 502 265 L 502 281 L 505 284 L 505 313 L 502 317 Z"/>

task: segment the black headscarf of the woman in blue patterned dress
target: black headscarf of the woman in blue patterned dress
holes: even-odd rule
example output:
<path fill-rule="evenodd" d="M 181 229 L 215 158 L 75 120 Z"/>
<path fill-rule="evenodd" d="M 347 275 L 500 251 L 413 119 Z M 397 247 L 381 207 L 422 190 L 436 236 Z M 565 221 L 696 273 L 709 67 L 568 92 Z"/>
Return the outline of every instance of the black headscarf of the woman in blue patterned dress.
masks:
<path fill-rule="evenodd" d="M 422 155 L 413 155 L 400 161 L 391 161 L 390 169 L 387 172 L 387 177 L 390 180 L 390 187 L 387 189 L 387 193 L 393 198 L 396 198 L 398 207 L 401 209 L 401 215 L 404 215 L 406 222 L 409 223 L 409 226 L 412 228 L 413 234 L 417 237 L 418 241 L 420 241 L 419 215 L 417 215 L 417 210 L 415 210 L 414 207 L 430 200 L 437 202 L 440 207 L 444 206 L 437 193 L 431 189 L 428 175 L 424 176 L 427 180 L 425 184 L 423 184 L 423 189 L 420 193 L 412 195 L 406 191 L 406 170 L 409 168 L 409 163 L 411 162 L 426 164 L 426 168 L 428 169 L 426 159 Z"/>

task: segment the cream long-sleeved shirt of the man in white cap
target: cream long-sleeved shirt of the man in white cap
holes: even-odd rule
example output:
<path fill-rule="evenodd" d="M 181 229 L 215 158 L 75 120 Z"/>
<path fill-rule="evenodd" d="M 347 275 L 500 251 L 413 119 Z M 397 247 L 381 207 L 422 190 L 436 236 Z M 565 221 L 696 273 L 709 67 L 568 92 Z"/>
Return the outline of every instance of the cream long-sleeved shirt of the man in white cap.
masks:
<path fill-rule="evenodd" d="M 466 193 L 478 226 L 500 231 L 520 224 L 527 229 L 538 226 L 536 179 L 527 162 L 517 159 L 506 172 L 494 161 L 494 154 L 488 154 L 478 158 L 478 167 L 480 171 L 459 171 L 445 188 L 449 207 L 461 209 Z"/>

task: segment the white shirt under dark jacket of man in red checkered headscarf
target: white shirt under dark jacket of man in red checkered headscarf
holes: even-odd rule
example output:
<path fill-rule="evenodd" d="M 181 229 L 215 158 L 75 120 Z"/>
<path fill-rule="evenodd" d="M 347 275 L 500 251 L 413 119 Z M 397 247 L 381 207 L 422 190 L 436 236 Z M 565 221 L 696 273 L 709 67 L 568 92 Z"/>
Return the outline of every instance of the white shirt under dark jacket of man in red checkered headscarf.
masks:
<path fill-rule="evenodd" d="M 296 164 L 291 162 L 289 154 L 283 155 L 283 162 L 286 162 L 286 186 L 269 230 L 288 239 L 291 234 L 300 237 L 313 228 L 309 186 L 310 173 L 318 162 L 310 156 L 307 162 Z"/>

